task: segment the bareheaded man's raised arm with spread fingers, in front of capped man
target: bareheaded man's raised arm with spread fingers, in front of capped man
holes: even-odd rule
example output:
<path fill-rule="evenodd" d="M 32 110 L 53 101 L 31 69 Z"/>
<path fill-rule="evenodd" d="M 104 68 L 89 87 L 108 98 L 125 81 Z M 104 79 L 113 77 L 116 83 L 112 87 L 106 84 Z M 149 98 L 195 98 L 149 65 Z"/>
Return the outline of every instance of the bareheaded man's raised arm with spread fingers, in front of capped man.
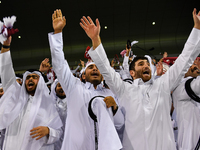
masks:
<path fill-rule="evenodd" d="M 92 40 L 93 47 L 89 51 L 89 55 L 97 65 L 103 75 L 106 84 L 112 92 L 119 98 L 124 92 L 124 83 L 118 73 L 110 66 L 110 62 L 106 56 L 100 39 L 100 23 L 96 19 L 96 25 L 90 17 L 83 17 L 80 23 L 88 37 Z"/>

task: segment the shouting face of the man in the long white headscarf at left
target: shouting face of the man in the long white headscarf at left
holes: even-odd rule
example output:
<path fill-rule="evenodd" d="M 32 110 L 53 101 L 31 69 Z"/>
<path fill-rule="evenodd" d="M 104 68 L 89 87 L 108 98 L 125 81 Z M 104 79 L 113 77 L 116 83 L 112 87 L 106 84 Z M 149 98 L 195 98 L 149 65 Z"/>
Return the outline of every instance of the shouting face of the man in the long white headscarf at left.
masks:
<path fill-rule="evenodd" d="M 40 76 L 32 73 L 26 77 L 25 86 L 28 94 L 34 96 Z"/>

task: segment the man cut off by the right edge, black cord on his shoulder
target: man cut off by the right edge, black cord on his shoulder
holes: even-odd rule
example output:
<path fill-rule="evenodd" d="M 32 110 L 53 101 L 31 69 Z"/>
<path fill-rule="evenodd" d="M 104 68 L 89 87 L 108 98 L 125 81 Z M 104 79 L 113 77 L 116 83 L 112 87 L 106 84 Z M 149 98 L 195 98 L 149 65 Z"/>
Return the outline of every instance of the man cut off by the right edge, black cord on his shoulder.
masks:
<path fill-rule="evenodd" d="M 172 93 L 178 124 L 177 144 L 179 150 L 199 149 L 200 71 L 197 63 L 199 64 L 200 62 L 195 61 L 185 74 L 183 81 Z M 191 95 L 196 95 L 197 99 Z"/>

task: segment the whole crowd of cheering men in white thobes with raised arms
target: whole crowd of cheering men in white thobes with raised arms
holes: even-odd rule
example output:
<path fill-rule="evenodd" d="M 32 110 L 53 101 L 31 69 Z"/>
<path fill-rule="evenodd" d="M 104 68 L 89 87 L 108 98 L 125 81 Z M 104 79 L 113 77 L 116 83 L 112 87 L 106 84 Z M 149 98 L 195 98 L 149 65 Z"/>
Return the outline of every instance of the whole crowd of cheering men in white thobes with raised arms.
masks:
<path fill-rule="evenodd" d="M 126 46 L 119 72 L 107 58 L 100 22 L 80 26 L 92 41 L 91 60 L 74 76 L 63 52 L 61 10 L 48 34 L 52 68 L 23 77 L 13 69 L 10 45 L 0 54 L 0 149 L 3 150 L 198 150 L 200 149 L 200 12 L 182 53 L 163 73 L 147 55 L 129 59 Z M 14 49 L 14 48 L 13 48 Z M 48 77 L 49 76 L 49 77 Z"/>

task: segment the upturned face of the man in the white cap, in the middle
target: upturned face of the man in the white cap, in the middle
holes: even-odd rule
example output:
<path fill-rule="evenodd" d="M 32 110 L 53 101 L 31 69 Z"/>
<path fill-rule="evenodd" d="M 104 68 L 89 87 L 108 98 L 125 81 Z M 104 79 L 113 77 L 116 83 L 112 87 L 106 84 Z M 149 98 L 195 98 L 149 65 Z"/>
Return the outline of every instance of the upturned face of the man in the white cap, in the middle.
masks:
<path fill-rule="evenodd" d="M 89 65 L 85 70 L 85 80 L 97 86 L 102 81 L 102 75 L 95 64 Z"/>

